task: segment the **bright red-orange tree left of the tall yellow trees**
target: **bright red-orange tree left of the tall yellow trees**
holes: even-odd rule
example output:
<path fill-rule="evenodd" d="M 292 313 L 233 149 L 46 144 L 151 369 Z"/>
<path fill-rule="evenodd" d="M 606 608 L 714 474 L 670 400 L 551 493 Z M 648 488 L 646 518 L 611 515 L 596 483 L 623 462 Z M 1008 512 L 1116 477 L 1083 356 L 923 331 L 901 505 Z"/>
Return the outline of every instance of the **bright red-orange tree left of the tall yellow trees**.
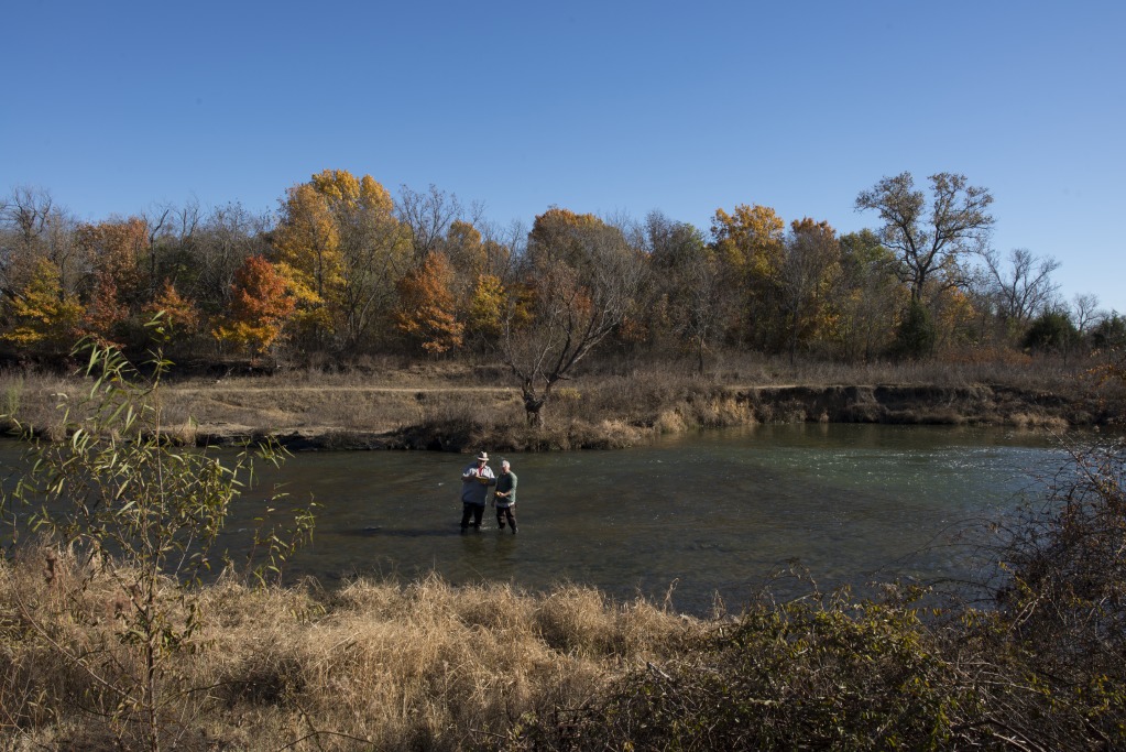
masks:
<path fill-rule="evenodd" d="M 235 271 L 230 308 L 212 335 L 252 357 L 266 355 L 294 313 L 286 286 L 286 277 L 272 263 L 261 256 L 249 257 Z"/>

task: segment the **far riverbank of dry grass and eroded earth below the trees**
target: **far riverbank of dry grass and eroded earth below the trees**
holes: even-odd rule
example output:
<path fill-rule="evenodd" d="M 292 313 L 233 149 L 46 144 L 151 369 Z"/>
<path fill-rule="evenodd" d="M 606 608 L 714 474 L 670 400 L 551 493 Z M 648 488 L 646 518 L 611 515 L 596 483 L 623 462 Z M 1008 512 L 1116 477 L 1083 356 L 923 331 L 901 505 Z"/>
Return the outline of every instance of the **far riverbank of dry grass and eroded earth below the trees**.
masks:
<path fill-rule="evenodd" d="M 8 405 L 43 435 L 57 430 L 55 395 L 82 388 L 69 379 L 0 378 Z M 831 370 L 756 364 L 709 376 L 659 365 L 628 374 L 592 370 L 555 388 L 539 428 L 527 426 L 519 391 L 494 366 L 176 379 L 162 388 L 166 430 L 184 444 L 225 446 L 269 437 L 294 451 L 611 449 L 656 435 L 772 422 L 1062 431 L 1115 426 L 1126 415 L 1120 384 L 1099 384 L 1082 368 L 1028 364 Z"/>

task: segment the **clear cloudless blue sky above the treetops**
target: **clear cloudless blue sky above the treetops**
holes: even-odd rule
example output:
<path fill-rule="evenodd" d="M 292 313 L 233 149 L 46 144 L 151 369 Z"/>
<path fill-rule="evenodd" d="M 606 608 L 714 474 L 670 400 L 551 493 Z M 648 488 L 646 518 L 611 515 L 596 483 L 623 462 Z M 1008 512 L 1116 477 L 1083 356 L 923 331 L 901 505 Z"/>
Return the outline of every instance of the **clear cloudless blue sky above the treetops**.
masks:
<path fill-rule="evenodd" d="M 707 231 L 960 172 L 993 245 L 1126 312 L 1126 2 L 48 2 L 2 14 L 0 189 L 83 220 L 274 211 L 325 168 L 526 224 L 549 206 Z"/>

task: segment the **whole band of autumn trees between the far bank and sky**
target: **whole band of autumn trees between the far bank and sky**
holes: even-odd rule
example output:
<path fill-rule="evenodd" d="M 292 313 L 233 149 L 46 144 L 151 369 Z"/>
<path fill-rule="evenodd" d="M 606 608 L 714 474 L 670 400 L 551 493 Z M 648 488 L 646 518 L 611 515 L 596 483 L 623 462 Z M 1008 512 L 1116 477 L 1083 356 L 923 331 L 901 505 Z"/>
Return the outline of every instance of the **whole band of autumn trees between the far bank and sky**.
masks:
<path fill-rule="evenodd" d="M 864 361 L 964 349 L 1120 342 L 1117 312 L 1063 299 L 1060 263 L 990 244 L 993 197 L 962 174 L 859 191 L 872 229 L 839 234 L 772 208 L 703 230 L 551 207 L 499 229 L 431 186 L 397 196 L 324 170 L 275 214 L 197 203 L 80 222 L 43 189 L 0 199 L 0 343 L 51 358 L 90 338 L 126 351 L 163 311 L 172 355 L 275 365 L 378 353 L 491 353 L 529 414 L 593 348 L 692 358 L 724 349 Z"/>

